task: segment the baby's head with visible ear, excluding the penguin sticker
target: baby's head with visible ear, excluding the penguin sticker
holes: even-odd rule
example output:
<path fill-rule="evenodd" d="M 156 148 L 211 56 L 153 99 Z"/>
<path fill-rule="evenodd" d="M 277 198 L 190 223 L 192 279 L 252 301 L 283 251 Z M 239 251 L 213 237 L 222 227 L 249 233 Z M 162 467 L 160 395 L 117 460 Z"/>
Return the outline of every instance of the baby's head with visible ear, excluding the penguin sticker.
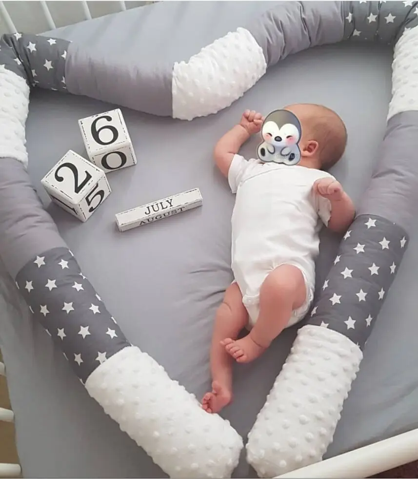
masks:
<path fill-rule="evenodd" d="M 337 113 L 326 106 L 299 103 L 284 107 L 294 113 L 300 122 L 300 166 L 327 170 L 344 153 L 347 130 Z"/>

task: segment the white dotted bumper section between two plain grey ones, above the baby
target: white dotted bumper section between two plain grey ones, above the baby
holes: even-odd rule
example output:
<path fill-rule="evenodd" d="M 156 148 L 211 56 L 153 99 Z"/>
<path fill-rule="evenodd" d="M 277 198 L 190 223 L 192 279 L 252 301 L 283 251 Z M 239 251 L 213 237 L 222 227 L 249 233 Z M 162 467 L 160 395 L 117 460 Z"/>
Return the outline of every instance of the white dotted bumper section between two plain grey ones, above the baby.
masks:
<path fill-rule="evenodd" d="M 175 63 L 173 118 L 193 120 L 230 106 L 266 72 L 263 51 L 251 33 L 238 28 Z"/>

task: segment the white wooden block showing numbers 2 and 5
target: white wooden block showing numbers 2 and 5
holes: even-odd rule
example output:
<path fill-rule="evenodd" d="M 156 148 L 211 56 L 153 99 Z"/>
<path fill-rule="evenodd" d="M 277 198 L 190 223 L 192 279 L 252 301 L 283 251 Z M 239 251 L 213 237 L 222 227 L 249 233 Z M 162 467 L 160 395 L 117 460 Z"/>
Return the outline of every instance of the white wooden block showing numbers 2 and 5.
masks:
<path fill-rule="evenodd" d="M 111 193 L 104 171 L 72 150 L 41 183 L 54 203 L 83 222 Z"/>

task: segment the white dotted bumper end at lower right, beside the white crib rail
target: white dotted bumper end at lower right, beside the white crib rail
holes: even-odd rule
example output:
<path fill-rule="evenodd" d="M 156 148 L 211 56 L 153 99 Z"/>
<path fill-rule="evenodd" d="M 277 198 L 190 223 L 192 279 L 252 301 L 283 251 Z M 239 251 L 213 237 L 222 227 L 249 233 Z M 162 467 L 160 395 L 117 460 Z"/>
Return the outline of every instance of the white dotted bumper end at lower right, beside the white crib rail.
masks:
<path fill-rule="evenodd" d="M 283 369 L 248 434 L 247 460 L 274 478 L 322 459 L 363 355 L 321 326 L 299 330 Z"/>

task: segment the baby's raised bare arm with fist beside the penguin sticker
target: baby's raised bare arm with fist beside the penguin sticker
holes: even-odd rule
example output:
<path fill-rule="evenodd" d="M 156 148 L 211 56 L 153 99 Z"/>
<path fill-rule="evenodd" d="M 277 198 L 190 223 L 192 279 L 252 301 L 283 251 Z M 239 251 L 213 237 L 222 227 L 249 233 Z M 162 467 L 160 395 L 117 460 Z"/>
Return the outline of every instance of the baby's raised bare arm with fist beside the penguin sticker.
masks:
<path fill-rule="evenodd" d="M 253 133 L 260 131 L 262 123 L 261 113 L 256 113 L 254 110 L 245 110 L 239 124 L 231 128 L 218 141 L 214 150 L 215 163 L 224 176 L 228 176 L 232 159 L 239 152 L 239 148 Z"/>

